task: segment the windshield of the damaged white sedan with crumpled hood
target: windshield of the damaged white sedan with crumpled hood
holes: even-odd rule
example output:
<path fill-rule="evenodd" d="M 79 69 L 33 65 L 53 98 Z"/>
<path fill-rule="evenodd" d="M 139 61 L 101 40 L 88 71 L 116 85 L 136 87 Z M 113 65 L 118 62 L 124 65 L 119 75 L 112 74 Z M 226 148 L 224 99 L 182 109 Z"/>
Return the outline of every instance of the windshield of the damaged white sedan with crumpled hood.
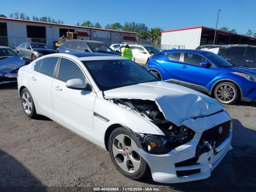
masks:
<path fill-rule="evenodd" d="M 131 60 L 82 61 L 102 91 L 158 81 L 152 74 Z"/>

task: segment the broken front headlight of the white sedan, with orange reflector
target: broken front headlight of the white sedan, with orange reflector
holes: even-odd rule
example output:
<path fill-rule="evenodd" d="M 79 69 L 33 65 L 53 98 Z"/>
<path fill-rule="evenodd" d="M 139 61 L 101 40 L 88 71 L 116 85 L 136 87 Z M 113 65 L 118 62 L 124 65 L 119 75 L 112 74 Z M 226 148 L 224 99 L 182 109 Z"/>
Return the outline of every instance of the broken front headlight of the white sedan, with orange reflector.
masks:
<path fill-rule="evenodd" d="M 186 126 L 176 127 L 165 132 L 165 136 L 144 134 L 144 150 L 150 154 L 166 154 L 174 148 L 192 140 L 195 132 Z"/>

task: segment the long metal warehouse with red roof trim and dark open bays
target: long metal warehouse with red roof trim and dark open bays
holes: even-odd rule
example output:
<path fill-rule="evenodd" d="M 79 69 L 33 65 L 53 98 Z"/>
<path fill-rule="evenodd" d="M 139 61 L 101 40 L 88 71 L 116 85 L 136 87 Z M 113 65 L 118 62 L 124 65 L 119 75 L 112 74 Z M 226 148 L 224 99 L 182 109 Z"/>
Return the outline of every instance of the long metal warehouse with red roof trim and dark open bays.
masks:
<path fill-rule="evenodd" d="M 15 48 L 26 41 L 43 42 L 54 48 L 55 42 L 66 32 L 78 32 L 81 40 L 97 40 L 108 45 L 136 42 L 136 33 L 83 26 L 54 24 L 30 20 L 0 18 L 0 45 Z"/>

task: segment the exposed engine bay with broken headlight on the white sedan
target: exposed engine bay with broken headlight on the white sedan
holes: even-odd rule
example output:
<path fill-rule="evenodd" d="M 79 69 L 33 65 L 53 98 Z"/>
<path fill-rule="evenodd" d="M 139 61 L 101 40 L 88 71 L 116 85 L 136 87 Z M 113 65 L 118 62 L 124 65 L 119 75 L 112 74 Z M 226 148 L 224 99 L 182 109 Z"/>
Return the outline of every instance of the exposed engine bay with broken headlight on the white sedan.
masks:
<path fill-rule="evenodd" d="M 195 132 L 186 126 L 176 126 L 165 119 L 155 101 L 142 99 L 110 99 L 140 116 L 143 116 L 164 132 L 165 136 L 153 134 L 139 134 L 140 142 L 149 153 L 166 154 L 170 150 L 185 144 L 194 138 Z"/>

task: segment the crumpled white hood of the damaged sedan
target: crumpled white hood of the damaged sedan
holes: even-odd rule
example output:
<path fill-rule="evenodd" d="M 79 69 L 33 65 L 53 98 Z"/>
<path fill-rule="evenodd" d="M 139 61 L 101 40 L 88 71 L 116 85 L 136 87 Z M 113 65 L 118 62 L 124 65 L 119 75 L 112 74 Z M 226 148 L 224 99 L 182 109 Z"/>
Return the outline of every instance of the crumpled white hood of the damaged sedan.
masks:
<path fill-rule="evenodd" d="M 154 100 L 165 118 L 181 126 L 187 118 L 207 116 L 224 109 L 209 96 L 176 84 L 148 82 L 104 91 L 105 98 Z"/>

